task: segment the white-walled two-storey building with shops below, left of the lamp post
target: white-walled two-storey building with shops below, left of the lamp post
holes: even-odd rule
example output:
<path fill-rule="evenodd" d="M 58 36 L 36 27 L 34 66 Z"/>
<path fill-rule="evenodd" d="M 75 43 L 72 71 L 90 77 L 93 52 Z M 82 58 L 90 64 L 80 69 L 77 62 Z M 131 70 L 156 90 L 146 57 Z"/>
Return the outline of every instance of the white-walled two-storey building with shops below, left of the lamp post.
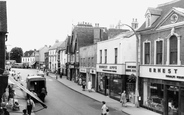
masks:
<path fill-rule="evenodd" d="M 135 103 L 135 62 L 136 37 L 132 31 L 98 42 L 97 91 L 120 100 L 120 95 L 125 90 L 127 100 Z"/>

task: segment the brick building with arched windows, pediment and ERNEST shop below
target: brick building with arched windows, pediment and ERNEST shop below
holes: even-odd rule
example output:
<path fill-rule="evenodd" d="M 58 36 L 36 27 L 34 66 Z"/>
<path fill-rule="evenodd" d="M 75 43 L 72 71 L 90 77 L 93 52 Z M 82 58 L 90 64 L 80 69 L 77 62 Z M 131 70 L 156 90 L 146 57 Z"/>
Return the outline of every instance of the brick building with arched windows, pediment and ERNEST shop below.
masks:
<path fill-rule="evenodd" d="M 148 8 L 141 37 L 141 105 L 163 115 L 184 113 L 184 1 Z"/>

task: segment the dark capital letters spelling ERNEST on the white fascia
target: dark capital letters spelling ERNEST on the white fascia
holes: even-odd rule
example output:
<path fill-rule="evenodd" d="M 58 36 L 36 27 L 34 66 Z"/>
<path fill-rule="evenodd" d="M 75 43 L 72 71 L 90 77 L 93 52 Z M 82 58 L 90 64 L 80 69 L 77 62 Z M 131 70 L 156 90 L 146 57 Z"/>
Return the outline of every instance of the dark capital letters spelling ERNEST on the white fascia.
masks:
<path fill-rule="evenodd" d="M 150 73 L 177 74 L 178 69 L 149 68 Z"/>

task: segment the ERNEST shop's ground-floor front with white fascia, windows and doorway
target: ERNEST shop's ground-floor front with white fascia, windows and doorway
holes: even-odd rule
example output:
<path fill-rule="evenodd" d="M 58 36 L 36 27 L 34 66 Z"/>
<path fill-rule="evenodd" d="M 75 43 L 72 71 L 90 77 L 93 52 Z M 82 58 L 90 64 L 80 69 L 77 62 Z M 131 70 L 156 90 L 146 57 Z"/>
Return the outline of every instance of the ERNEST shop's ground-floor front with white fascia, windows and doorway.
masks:
<path fill-rule="evenodd" d="M 184 68 L 141 66 L 141 105 L 163 115 L 184 115 Z"/>

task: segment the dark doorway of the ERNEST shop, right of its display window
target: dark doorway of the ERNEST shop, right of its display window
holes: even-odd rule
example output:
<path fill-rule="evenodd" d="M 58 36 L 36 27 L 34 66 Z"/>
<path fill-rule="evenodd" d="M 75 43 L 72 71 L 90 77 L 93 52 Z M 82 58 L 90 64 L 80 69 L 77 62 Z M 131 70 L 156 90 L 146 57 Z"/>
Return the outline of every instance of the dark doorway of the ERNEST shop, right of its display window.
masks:
<path fill-rule="evenodd" d="M 167 113 L 168 115 L 178 115 L 179 88 L 177 86 L 167 86 Z"/>

